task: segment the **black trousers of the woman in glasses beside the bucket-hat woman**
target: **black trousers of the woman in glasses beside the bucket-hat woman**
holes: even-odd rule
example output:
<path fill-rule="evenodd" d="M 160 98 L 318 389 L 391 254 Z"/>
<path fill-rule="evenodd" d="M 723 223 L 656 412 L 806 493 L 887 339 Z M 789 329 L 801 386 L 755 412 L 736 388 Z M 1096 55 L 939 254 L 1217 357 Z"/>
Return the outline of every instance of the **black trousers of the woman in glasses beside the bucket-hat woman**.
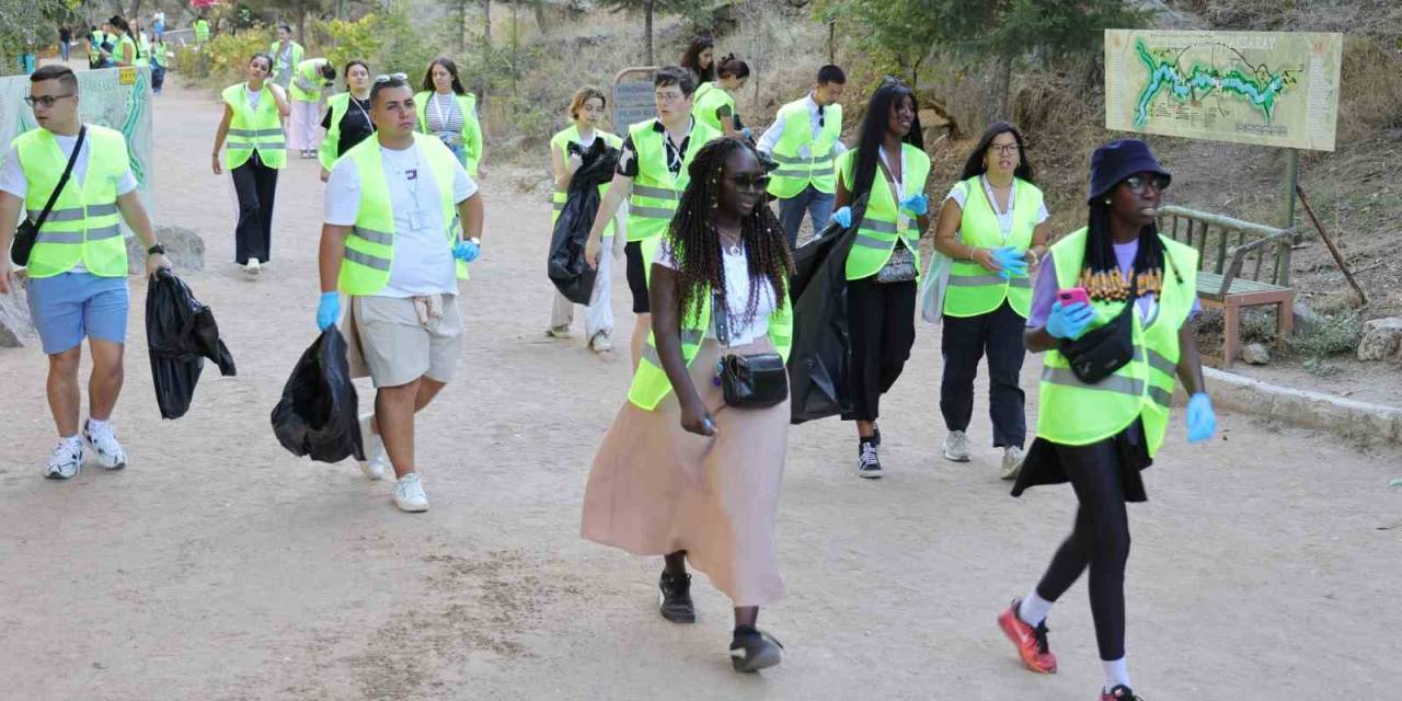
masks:
<path fill-rule="evenodd" d="M 966 430 L 973 416 L 973 380 L 979 360 L 988 356 L 988 416 L 993 419 L 993 447 L 1023 447 L 1028 439 L 1026 395 L 1018 386 L 1028 349 L 1022 345 L 1026 320 L 1002 306 L 977 317 L 949 317 L 939 349 L 945 374 L 939 383 L 939 412 L 945 428 Z"/>

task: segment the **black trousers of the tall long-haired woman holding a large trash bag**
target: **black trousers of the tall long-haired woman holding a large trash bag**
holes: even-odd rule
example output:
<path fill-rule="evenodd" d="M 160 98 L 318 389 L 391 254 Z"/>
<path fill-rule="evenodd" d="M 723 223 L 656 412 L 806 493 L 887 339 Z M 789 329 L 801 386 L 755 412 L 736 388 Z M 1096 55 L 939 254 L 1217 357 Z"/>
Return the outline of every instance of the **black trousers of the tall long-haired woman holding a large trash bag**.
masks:
<path fill-rule="evenodd" d="M 916 345 L 916 282 L 878 283 L 876 278 L 847 282 L 847 325 L 852 339 L 848 421 L 876 421 L 880 395 L 906 369 Z"/>

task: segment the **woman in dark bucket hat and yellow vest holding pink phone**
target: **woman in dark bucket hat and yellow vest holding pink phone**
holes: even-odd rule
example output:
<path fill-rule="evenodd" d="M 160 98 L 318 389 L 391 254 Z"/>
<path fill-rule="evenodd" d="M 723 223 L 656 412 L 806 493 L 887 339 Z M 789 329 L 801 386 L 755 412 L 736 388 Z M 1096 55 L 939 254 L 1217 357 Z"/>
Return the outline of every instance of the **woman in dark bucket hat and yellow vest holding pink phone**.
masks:
<path fill-rule="evenodd" d="M 1091 617 L 1105 673 L 1101 701 L 1138 700 L 1124 660 L 1126 502 L 1145 501 L 1140 471 L 1152 464 L 1168 433 L 1175 377 L 1189 395 L 1187 442 L 1204 442 L 1217 430 L 1193 339 L 1197 252 L 1159 236 L 1155 224 L 1169 182 L 1144 142 L 1110 142 L 1095 150 L 1087 227 L 1057 241 L 1042 261 L 1025 332 L 1028 349 L 1046 352 L 1046 363 L 1037 437 L 1012 495 L 1071 482 L 1080 508 L 1042 580 L 1012 600 L 998 625 L 1025 666 L 1056 672 L 1047 611 L 1089 571 Z M 1073 343 L 1102 345 L 1082 336 L 1108 324 L 1129 324 L 1133 348 L 1095 353 L 1096 363 L 1073 369 L 1067 353 L 1084 352 Z M 1087 367 L 1110 374 L 1089 381 Z"/>

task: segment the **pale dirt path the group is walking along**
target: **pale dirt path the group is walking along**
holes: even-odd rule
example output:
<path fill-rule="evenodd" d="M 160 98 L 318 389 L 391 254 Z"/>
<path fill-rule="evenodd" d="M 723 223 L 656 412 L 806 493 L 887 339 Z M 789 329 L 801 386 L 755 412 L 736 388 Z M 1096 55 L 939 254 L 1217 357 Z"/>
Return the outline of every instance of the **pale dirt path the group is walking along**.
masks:
<path fill-rule="evenodd" d="M 761 615 L 788 656 L 740 677 L 721 594 L 701 583 L 700 624 L 667 624 L 655 611 L 658 561 L 578 537 L 585 475 L 628 362 L 543 336 L 543 199 L 505 177 L 486 184 L 460 380 L 419 423 L 433 510 L 408 516 L 387 484 L 350 463 L 299 461 L 268 426 L 315 332 L 314 163 L 283 171 L 273 264 L 245 279 L 231 264 L 227 181 L 207 171 L 217 105 L 175 87 L 157 105 L 156 217 L 205 237 L 207 269 L 188 279 L 240 376 L 206 370 L 191 414 L 161 422 L 144 285 L 133 282 L 116 415 L 133 464 L 56 484 L 39 477 L 53 443 L 45 360 L 0 350 L 0 697 L 1092 697 L 1084 583 L 1052 615 L 1057 676 L 1022 672 L 994 625 L 1040 575 L 1074 498 L 1008 498 L 983 388 L 974 463 L 938 457 L 938 331 L 921 327 L 886 402 L 886 479 L 851 477 L 850 426 L 792 432 L 780 513 L 791 596 Z M 1029 390 L 1036 366 L 1023 372 Z M 1148 474 L 1152 501 L 1133 508 L 1136 687 L 1154 700 L 1394 697 L 1402 492 L 1387 484 L 1402 477 L 1402 454 L 1242 416 L 1221 416 L 1221 440 L 1189 449 L 1180 421 Z"/>

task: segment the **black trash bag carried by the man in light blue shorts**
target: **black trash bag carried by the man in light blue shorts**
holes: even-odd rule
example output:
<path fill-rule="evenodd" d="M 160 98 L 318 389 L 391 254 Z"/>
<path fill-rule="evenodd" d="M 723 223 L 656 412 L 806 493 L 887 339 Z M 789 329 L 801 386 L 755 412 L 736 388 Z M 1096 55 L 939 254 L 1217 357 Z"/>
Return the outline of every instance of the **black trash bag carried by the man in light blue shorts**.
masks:
<path fill-rule="evenodd" d="M 178 419 L 189 411 L 206 358 L 219 366 L 219 374 L 238 374 L 229 346 L 219 338 L 215 313 L 195 299 L 185 280 L 165 269 L 146 286 L 146 346 L 163 419 Z"/>

